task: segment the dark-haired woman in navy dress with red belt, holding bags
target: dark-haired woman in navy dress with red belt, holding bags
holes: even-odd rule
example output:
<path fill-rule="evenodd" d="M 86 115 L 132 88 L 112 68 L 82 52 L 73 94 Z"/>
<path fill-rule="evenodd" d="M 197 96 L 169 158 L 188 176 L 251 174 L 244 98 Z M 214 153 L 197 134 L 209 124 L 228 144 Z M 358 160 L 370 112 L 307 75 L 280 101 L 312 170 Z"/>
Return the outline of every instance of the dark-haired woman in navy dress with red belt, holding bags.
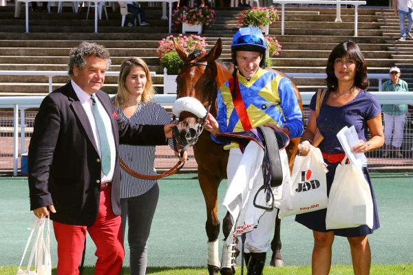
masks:
<path fill-rule="evenodd" d="M 321 104 L 319 117 L 315 115 L 316 96 L 310 102 L 308 126 L 302 136 L 301 155 L 307 155 L 317 133 L 317 127 L 324 136 L 319 144 L 324 161 L 328 164 L 327 194 L 330 192 L 337 165 L 345 157 L 337 139 L 337 133 L 344 126 L 354 125 L 359 142 L 352 147 L 354 153 L 367 153 L 383 146 L 384 134 L 381 122 L 381 107 L 372 94 L 368 93 L 367 67 L 359 46 L 353 41 L 344 41 L 332 50 L 326 67 L 328 91 Z M 370 133 L 370 140 L 368 140 Z M 330 272 L 332 243 L 335 236 L 346 236 L 350 243 L 354 274 L 370 273 L 371 252 L 367 235 L 380 227 L 374 190 L 367 167 L 363 174 L 370 185 L 373 205 L 373 228 L 361 225 L 357 228 L 326 230 L 326 209 L 299 214 L 295 221 L 313 230 L 314 248 L 312 256 L 313 274 L 326 275 Z"/>

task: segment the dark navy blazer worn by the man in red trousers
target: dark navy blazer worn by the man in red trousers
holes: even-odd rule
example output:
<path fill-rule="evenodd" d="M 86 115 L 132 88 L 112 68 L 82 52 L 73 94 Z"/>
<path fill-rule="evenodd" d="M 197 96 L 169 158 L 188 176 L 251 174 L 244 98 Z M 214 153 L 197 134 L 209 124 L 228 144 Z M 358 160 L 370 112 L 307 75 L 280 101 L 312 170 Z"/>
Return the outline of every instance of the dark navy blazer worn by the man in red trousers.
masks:
<path fill-rule="evenodd" d="M 132 126 L 116 119 L 109 96 L 97 91 L 112 122 L 116 164 L 112 181 L 112 210 L 120 214 L 119 142 L 167 144 L 163 125 Z M 28 153 L 30 210 L 54 205 L 54 221 L 92 225 L 100 199 L 100 157 L 85 109 L 71 83 L 45 97 L 34 121 Z"/>

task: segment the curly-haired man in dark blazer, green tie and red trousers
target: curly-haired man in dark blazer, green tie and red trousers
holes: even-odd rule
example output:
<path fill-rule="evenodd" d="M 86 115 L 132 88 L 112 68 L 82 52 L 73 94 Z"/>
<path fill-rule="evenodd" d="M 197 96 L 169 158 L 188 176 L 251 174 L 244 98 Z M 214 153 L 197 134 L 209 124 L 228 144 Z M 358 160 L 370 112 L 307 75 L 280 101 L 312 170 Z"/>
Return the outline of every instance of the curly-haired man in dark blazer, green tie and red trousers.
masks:
<path fill-rule="evenodd" d="M 109 51 L 101 45 L 81 43 L 72 49 L 72 79 L 45 97 L 34 122 L 28 155 L 30 210 L 53 220 L 59 275 L 78 274 L 86 232 L 96 244 L 95 274 L 120 274 L 125 252 L 118 144 L 167 144 L 171 137 L 173 124 L 132 126 L 116 119 L 109 96 L 100 91 L 109 65 Z M 92 95 L 105 125 L 99 129 Z M 107 134 L 110 148 L 107 175 L 101 169 L 99 131 Z"/>

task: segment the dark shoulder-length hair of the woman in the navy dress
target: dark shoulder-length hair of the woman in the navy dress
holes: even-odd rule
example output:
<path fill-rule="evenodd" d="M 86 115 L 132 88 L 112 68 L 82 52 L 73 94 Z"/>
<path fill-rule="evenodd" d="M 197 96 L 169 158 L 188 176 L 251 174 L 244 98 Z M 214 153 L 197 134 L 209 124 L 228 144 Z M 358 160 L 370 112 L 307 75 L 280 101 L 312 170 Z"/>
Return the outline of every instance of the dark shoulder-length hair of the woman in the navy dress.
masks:
<path fill-rule="evenodd" d="M 354 76 L 354 85 L 359 89 L 367 89 L 370 81 L 367 78 L 367 66 L 364 56 L 361 53 L 359 46 L 352 40 L 347 40 L 339 43 L 328 56 L 326 67 L 326 85 L 330 91 L 337 90 L 338 80 L 334 72 L 334 63 L 336 58 L 350 58 L 356 61 L 356 74 Z"/>

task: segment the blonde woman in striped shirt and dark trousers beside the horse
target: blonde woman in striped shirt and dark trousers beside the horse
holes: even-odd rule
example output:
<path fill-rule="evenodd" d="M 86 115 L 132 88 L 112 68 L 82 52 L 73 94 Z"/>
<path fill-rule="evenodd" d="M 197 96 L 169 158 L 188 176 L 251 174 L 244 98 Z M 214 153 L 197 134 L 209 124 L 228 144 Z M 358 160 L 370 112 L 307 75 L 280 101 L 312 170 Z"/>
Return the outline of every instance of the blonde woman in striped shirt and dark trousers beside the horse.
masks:
<path fill-rule="evenodd" d="M 167 124 L 171 117 L 159 104 L 152 102 L 153 87 L 145 61 L 129 58 L 120 66 L 118 93 L 113 99 L 121 120 L 133 124 Z M 169 142 L 171 144 L 171 142 Z M 120 157 L 138 173 L 156 175 L 155 146 L 120 144 Z M 147 240 L 159 197 L 156 180 L 138 179 L 121 170 L 120 207 L 125 238 L 128 220 L 128 242 L 132 275 L 143 275 L 147 267 Z"/>

